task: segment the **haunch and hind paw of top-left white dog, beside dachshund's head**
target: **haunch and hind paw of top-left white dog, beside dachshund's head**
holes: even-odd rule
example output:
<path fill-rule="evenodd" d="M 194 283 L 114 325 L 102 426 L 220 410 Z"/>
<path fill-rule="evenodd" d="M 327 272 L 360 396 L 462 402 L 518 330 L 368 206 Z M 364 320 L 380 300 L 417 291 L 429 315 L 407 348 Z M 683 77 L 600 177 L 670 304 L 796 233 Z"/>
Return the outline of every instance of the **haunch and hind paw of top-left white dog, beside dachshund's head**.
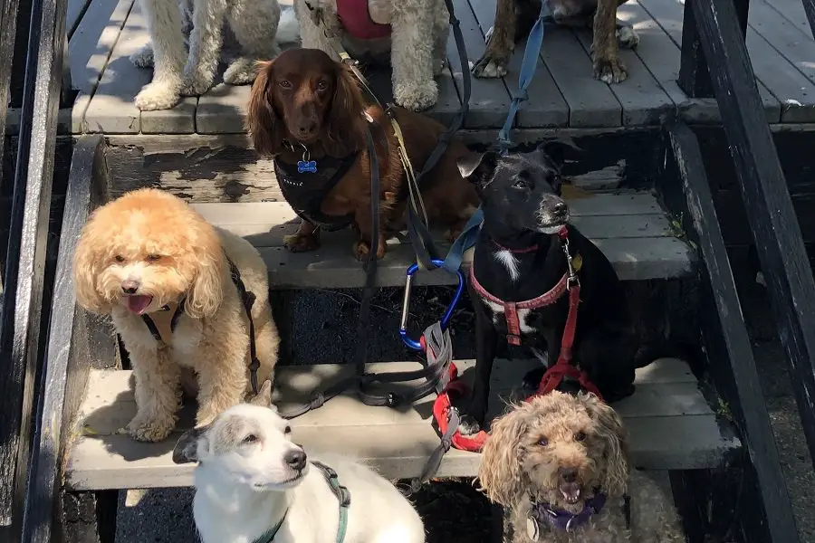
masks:
<path fill-rule="evenodd" d="M 276 0 L 239 0 L 226 14 L 235 38 L 243 50 L 224 72 L 230 85 L 245 85 L 254 81 L 257 61 L 268 61 L 280 53 L 277 47 L 277 27 L 280 5 Z"/>

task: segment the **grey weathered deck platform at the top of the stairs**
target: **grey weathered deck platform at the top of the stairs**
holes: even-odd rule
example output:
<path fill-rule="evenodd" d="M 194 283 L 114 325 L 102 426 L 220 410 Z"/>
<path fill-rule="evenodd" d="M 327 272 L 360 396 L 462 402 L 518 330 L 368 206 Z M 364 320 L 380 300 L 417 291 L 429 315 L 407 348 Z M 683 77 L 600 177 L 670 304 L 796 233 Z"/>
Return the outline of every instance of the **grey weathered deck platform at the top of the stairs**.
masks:
<path fill-rule="evenodd" d="M 494 19 L 494 0 L 455 0 L 470 60 L 484 51 L 484 32 Z M 618 16 L 641 37 L 637 51 L 621 52 L 628 81 L 607 85 L 591 75 L 590 33 L 550 26 L 541 62 L 529 90 L 530 102 L 516 120 L 519 129 L 612 129 L 654 125 L 679 110 L 695 123 L 714 122 L 714 100 L 689 100 L 676 84 L 683 5 L 681 0 L 629 0 Z M 151 71 L 128 59 L 149 41 L 147 25 L 134 0 L 71 0 L 67 27 L 73 86 L 72 111 L 62 112 L 63 132 L 73 134 L 229 134 L 243 132 L 248 87 L 220 83 L 206 95 L 187 98 L 175 109 L 139 112 L 133 97 Z M 750 6 L 748 49 L 767 120 L 815 122 L 815 41 L 800 0 L 755 0 Z M 442 122 L 459 107 L 461 73 L 455 45 L 448 47 L 450 70 L 439 78 L 440 97 L 430 111 Z M 466 129 L 503 124 L 523 54 L 518 47 L 502 80 L 474 80 Z M 388 75 L 374 73 L 389 94 Z M 9 116 L 10 132 L 18 115 Z"/>

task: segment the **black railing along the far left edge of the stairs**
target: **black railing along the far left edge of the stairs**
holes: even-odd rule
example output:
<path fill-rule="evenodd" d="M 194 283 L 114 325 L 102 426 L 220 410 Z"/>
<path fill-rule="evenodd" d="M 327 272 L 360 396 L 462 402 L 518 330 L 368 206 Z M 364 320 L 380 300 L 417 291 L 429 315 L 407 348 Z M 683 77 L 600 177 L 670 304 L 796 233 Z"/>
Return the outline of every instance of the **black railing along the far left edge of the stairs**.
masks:
<path fill-rule="evenodd" d="M 14 18 L 11 7 L 15 5 L 14 0 L 5 0 L 4 15 L 8 19 Z M 67 0 L 34 0 L 30 31 L 27 36 L 19 36 L 15 48 L 21 51 L 19 40 L 28 39 L 0 315 L 0 358 L 4 360 L 0 372 L 0 533 L 9 543 L 24 540 L 22 517 L 34 420 L 34 382 L 41 358 L 43 279 L 66 12 Z M 11 24 L 8 19 L 4 16 L 3 39 Z M 8 44 L 0 44 L 0 51 L 8 53 Z M 0 74 L 11 71 L 10 57 L 8 53 L 0 59 Z M 7 76 L 0 85 L 7 89 L 8 81 Z M 5 122 L 2 124 L 5 127 Z"/>

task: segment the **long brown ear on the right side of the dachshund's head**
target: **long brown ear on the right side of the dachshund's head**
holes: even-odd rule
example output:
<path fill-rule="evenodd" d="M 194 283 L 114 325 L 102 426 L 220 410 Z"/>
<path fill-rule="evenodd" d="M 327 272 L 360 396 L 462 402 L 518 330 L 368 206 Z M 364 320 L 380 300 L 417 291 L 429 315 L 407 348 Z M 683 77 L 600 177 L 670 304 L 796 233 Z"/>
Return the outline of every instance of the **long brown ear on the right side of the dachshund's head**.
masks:
<path fill-rule="evenodd" d="M 364 112 L 365 101 L 356 78 L 345 64 L 334 62 L 334 96 L 327 111 L 323 141 L 326 153 L 331 157 L 347 157 L 365 148 Z"/>

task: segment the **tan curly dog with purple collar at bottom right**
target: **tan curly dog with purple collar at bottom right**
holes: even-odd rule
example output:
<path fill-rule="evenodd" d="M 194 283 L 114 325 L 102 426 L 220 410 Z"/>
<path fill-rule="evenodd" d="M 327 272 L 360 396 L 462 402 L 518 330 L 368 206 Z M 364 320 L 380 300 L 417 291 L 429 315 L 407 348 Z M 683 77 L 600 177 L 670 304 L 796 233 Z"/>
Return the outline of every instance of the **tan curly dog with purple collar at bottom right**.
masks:
<path fill-rule="evenodd" d="M 622 420 L 597 396 L 537 396 L 492 428 L 478 478 L 490 500 L 507 509 L 513 531 L 507 540 L 685 541 L 657 484 L 630 469 Z"/>

